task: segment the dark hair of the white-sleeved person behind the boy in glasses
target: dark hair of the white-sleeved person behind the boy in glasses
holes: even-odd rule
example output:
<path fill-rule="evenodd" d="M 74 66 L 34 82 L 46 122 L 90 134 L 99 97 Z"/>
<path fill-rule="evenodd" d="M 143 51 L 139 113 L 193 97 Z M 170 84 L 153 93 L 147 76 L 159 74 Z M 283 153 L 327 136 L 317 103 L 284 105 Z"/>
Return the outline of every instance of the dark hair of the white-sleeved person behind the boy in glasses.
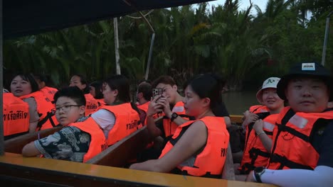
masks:
<path fill-rule="evenodd" d="M 122 101 L 124 103 L 129 103 L 131 101 L 130 98 L 130 92 L 129 92 L 129 81 L 128 79 L 121 75 L 112 75 L 111 77 L 108 77 L 104 81 L 107 85 L 110 86 L 110 89 L 115 90 L 117 89 L 118 95 L 117 99 L 119 101 Z"/>

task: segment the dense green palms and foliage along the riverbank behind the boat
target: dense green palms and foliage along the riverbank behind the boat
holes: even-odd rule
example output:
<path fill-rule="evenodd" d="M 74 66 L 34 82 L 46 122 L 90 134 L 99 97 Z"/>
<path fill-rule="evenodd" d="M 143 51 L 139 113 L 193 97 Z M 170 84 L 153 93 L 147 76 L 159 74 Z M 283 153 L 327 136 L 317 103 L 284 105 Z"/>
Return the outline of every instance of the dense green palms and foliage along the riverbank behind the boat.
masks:
<path fill-rule="evenodd" d="M 192 74 L 217 72 L 228 89 L 246 89 L 280 77 L 290 64 L 322 60 L 329 0 L 269 0 L 265 9 L 247 10 L 239 1 L 210 7 L 181 6 L 150 12 L 156 37 L 149 79 L 173 76 L 179 84 Z M 148 13 L 145 11 L 144 13 Z M 143 79 L 152 32 L 138 13 L 118 18 L 122 74 Z M 332 28 L 333 21 L 330 23 Z M 113 21 L 100 21 L 50 33 L 4 41 L 4 67 L 50 74 L 56 86 L 80 73 L 90 81 L 115 73 Z M 333 67 L 333 32 L 326 67 Z M 333 70 L 333 69 L 332 69 Z M 256 87 L 257 88 L 257 87 Z"/>

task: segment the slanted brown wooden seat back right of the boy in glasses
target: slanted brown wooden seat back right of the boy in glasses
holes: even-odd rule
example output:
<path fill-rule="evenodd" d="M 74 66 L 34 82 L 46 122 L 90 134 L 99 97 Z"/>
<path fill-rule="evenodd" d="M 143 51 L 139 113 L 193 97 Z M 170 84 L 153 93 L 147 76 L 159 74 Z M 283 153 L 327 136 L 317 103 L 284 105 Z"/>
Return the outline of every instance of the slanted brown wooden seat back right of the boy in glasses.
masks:
<path fill-rule="evenodd" d="M 87 163 L 103 166 L 125 166 L 129 159 L 136 158 L 137 153 L 142 151 L 151 141 L 147 126 L 144 126 L 97 154 L 93 159 L 88 160 Z"/>

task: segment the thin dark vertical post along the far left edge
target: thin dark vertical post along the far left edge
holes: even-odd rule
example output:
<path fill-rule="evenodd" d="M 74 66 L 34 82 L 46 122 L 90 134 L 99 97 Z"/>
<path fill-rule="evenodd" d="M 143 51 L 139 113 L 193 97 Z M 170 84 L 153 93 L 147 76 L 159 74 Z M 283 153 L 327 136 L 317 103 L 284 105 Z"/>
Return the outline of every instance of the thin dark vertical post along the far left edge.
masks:
<path fill-rule="evenodd" d="M 4 72 L 3 72 L 4 64 L 2 57 L 2 0 L 0 0 L 0 88 L 4 89 Z M 0 91 L 0 116 L 3 116 L 3 91 Z M 0 120 L 0 155 L 4 155 L 4 120 Z"/>

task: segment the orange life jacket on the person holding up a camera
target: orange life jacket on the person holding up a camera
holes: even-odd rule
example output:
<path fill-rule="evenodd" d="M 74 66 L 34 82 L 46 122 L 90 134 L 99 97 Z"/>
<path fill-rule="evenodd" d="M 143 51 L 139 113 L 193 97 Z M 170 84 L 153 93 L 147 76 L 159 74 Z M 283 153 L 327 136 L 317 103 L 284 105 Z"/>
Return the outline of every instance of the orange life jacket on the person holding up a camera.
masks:
<path fill-rule="evenodd" d="M 189 120 L 189 115 L 186 115 L 184 103 L 182 101 L 179 101 L 174 105 L 174 108 L 172 108 L 172 113 L 177 113 L 181 118 Z M 174 122 L 171 122 L 171 119 L 167 118 L 164 115 L 163 128 L 164 128 L 165 137 L 171 137 L 172 135 L 174 135 L 174 132 L 176 131 L 178 126 L 179 125 L 177 125 Z"/>

